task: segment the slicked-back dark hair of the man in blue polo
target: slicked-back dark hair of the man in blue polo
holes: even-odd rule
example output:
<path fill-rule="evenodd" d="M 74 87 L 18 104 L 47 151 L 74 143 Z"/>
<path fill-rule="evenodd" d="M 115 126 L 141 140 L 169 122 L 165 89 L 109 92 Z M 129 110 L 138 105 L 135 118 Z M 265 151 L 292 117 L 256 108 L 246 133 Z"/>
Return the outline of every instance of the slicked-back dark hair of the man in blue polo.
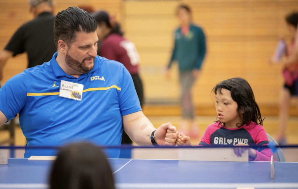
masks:
<path fill-rule="evenodd" d="M 77 32 L 92 33 L 97 29 L 94 18 L 85 10 L 78 7 L 69 7 L 60 11 L 54 23 L 54 42 L 58 48 L 58 40 L 71 45 L 76 40 Z"/>

